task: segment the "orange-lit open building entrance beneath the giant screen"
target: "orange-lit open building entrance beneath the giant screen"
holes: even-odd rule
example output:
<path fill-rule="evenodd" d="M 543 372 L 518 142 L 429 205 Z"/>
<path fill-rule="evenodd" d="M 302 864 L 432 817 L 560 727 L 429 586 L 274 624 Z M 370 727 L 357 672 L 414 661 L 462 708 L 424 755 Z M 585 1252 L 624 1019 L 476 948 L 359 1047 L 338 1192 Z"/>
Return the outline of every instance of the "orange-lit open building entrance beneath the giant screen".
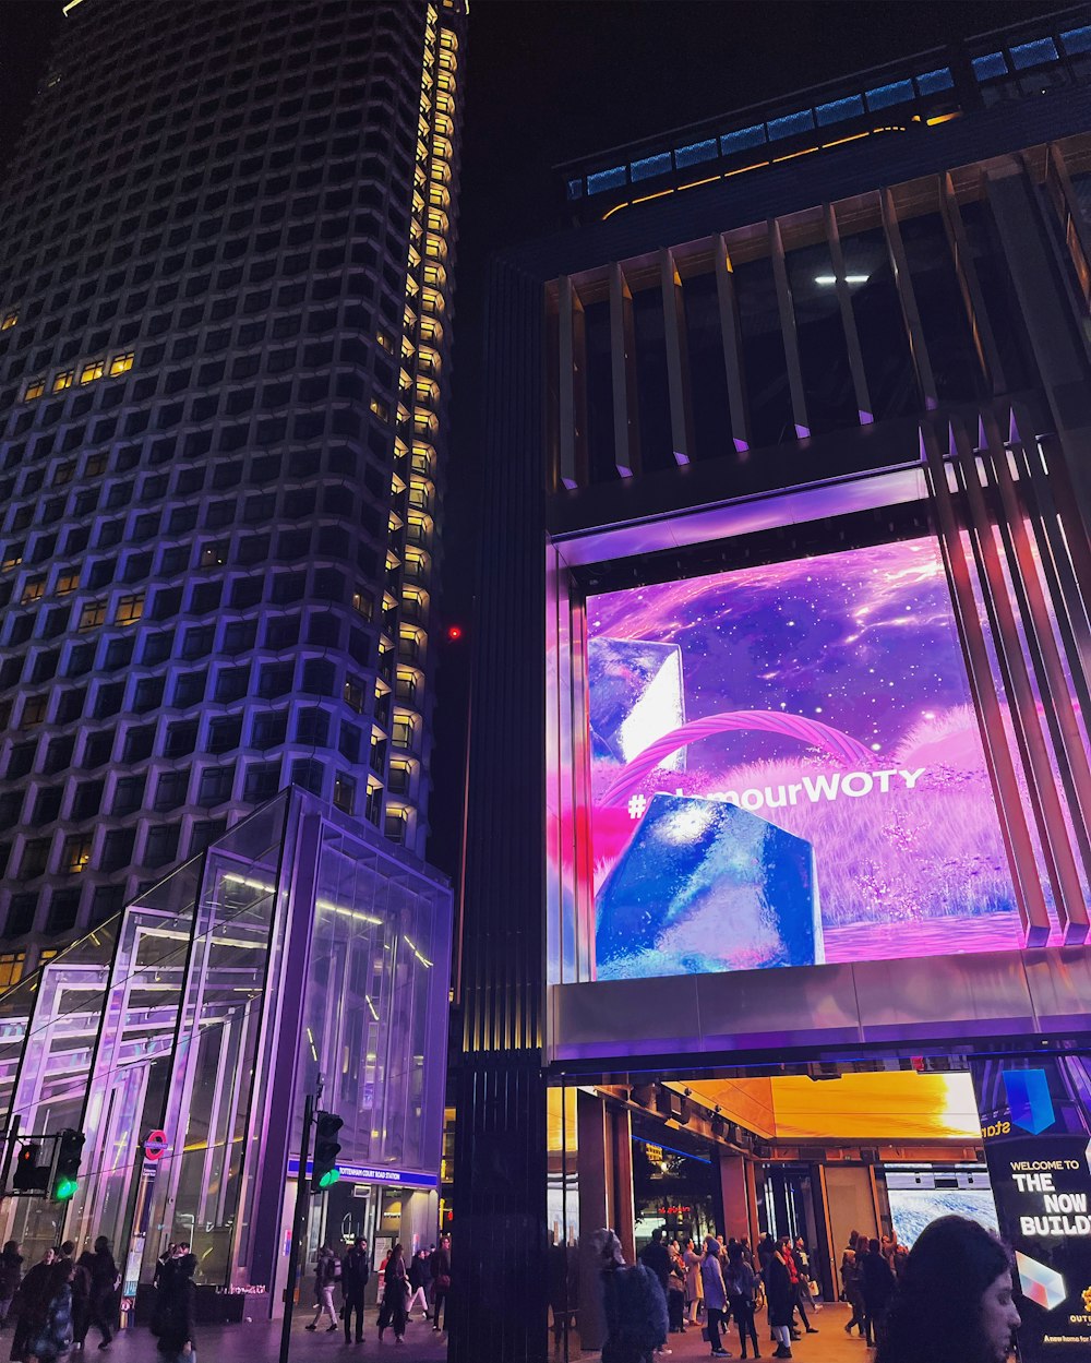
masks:
<path fill-rule="evenodd" d="M 1091 1217 L 1080 1220 L 1088 1190 L 1075 1183 L 1088 1184 L 1091 1174 L 1068 1146 L 1088 1148 L 1090 1065 L 1091 1056 L 1054 1052 L 825 1058 L 552 1089 L 557 1349 L 579 1358 L 602 1344 L 591 1246 L 603 1227 L 629 1262 L 654 1238 L 685 1259 L 715 1235 L 744 1244 L 759 1273 L 786 1236 L 804 1307 L 829 1310 L 846 1348 L 844 1251 L 873 1244 L 896 1280 L 923 1228 L 949 1214 L 978 1221 L 1017 1253 L 1024 1329 L 1041 1337 L 1057 1325 L 1038 1318 L 1046 1303 L 1058 1319 L 1084 1311 Z M 1039 1165 L 1056 1165 L 1057 1179 L 1066 1171 L 1072 1189 L 1039 1187 L 1024 1172 Z M 1053 1242 L 1032 1239 L 1028 1225 Z M 700 1323 L 696 1278 L 684 1268 L 678 1310 Z M 839 1363 L 831 1348 L 815 1358 Z M 846 1358 L 857 1358 L 854 1348 Z"/>

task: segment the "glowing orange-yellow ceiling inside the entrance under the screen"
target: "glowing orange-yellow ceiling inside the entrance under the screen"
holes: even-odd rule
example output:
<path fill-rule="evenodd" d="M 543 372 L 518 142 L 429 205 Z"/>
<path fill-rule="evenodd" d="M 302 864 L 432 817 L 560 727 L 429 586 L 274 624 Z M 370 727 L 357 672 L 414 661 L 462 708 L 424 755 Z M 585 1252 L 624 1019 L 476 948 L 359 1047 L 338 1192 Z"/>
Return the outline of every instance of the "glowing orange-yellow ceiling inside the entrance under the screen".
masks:
<path fill-rule="evenodd" d="M 806 1075 L 696 1079 L 704 1107 L 776 1141 L 979 1141 L 970 1075 L 880 1071 L 815 1082 Z"/>

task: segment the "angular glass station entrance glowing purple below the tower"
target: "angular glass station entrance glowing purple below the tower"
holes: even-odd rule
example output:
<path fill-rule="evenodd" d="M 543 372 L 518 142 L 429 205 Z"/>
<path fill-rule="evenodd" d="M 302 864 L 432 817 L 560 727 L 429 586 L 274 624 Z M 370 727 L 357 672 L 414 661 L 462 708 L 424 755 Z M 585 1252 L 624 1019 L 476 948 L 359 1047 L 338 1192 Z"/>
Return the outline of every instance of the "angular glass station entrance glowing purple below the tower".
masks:
<path fill-rule="evenodd" d="M 29 1261 L 106 1235 L 127 1308 L 165 1244 L 279 1315 L 304 1097 L 343 1120 L 319 1244 L 432 1243 L 451 890 L 366 822 L 286 791 L 0 998 L 0 1122 L 83 1133 L 68 1202 L 5 1197 Z"/>

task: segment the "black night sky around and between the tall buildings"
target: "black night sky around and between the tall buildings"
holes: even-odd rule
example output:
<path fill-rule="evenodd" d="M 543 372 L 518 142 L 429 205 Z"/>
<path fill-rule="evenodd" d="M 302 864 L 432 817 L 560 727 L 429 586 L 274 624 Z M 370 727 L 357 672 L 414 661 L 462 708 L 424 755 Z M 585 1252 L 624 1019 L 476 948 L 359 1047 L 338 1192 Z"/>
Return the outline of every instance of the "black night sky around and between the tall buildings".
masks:
<path fill-rule="evenodd" d="M 64 22 L 60 8 L 61 0 L 0 0 L 0 166 Z M 447 619 L 469 623 L 473 611 L 485 264 L 492 252 L 563 225 L 552 168 L 1052 8 L 1011 0 L 473 0 L 444 499 Z M 447 645 L 436 778 L 448 791 L 458 781 L 467 660 L 469 641 Z M 449 868 L 456 819 L 443 823 L 433 855 Z"/>

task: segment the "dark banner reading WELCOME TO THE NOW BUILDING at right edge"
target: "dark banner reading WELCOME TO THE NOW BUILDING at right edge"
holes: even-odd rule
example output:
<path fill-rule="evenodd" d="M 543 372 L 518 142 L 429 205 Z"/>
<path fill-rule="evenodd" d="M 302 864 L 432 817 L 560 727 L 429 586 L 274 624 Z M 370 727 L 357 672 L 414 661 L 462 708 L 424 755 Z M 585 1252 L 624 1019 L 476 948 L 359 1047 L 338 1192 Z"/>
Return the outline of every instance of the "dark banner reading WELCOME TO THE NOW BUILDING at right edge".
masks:
<path fill-rule="evenodd" d="M 1088 1059 L 973 1062 L 997 1220 L 1015 1253 L 1023 1363 L 1091 1356 Z"/>

